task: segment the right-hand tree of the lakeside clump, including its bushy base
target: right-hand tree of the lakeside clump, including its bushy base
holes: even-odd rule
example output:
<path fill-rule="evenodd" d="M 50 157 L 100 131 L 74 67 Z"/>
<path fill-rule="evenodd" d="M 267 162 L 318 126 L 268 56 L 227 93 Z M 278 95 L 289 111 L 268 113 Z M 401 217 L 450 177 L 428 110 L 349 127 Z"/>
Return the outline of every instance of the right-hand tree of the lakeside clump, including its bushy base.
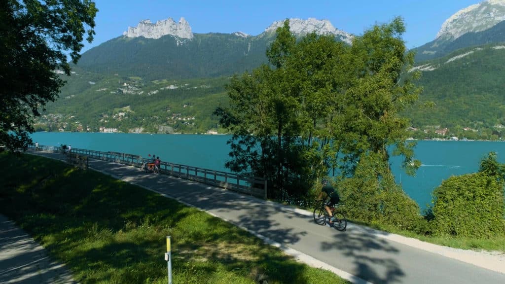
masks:
<path fill-rule="evenodd" d="M 395 18 L 352 41 L 343 64 L 351 75 L 334 139 L 341 145 L 347 212 L 405 228 L 416 225 L 419 206 L 395 184 L 389 158 L 403 156 L 408 174 L 421 165 L 414 160 L 415 142 L 407 141 L 409 120 L 399 115 L 421 89 L 412 82 L 419 73 L 405 72 L 412 68 L 414 54 L 407 53 L 403 32 L 403 21 Z"/>

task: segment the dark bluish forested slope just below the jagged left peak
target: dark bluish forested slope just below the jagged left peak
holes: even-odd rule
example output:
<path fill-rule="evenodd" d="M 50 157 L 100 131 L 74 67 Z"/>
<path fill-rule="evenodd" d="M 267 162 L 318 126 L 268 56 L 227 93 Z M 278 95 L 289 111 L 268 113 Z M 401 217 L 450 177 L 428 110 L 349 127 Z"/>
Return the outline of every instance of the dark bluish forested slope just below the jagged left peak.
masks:
<path fill-rule="evenodd" d="M 266 63 L 265 51 L 272 39 L 220 33 L 194 34 L 191 40 L 171 35 L 159 39 L 121 36 L 84 53 L 78 66 L 146 80 L 219 77 Z"/>

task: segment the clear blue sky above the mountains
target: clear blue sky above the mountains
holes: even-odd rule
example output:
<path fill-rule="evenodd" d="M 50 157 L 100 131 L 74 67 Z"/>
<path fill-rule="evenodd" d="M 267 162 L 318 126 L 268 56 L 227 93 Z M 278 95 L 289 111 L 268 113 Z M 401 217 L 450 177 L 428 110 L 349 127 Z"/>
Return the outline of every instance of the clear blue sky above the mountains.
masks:
<path fill-rule="evenodd" d="M 433 40 L 442 23 L 479 0 L 95 0 L 95 39 L 82 52 L 123 34 L 139 21 L 184 17 L 193 33 L 241 31 L 262 33 L 274 21 L 286 18 L 329 20 L 335 28 L 360 35 L 375 23 L 395 16 L 406 22 L 403 39 L 409 49 Z"/>

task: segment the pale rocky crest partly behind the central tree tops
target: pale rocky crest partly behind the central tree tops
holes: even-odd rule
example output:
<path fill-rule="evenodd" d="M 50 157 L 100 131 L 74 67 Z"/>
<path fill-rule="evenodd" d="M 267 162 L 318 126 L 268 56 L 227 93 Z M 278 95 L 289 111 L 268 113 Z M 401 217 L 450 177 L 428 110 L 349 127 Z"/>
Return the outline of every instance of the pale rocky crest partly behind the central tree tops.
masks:
<path fill-rule="evenodd" d="M 284 20 L 276 21 L 268 28 L 266 28 L 265 32 L 275 31 L 278 27 L 282 27 L 283 24 Z M 317 34 L 333 34 L 340 37 L 341 40 L 349 44 L 352 41 L 352 35 L 350 33 L 335 28 L 328 20 L 318 20 L 315 18 L 302 20 L 298 18 L 292 18 L 289 19 L 289 29 L 292 33 L 299 35 L 304 35 L 315 31 Z"/>

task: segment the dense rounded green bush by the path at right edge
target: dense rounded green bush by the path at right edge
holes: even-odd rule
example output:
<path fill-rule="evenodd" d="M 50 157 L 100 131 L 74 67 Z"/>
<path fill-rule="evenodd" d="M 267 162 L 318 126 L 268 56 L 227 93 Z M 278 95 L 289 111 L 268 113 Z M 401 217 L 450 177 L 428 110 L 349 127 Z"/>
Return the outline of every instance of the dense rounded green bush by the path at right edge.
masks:
<path fill-rule="evenodd" d="M 503 180 L 486 172 L 452 176 L 433 192 L 434 233 L 489 238 L 505 233 Z"/>

